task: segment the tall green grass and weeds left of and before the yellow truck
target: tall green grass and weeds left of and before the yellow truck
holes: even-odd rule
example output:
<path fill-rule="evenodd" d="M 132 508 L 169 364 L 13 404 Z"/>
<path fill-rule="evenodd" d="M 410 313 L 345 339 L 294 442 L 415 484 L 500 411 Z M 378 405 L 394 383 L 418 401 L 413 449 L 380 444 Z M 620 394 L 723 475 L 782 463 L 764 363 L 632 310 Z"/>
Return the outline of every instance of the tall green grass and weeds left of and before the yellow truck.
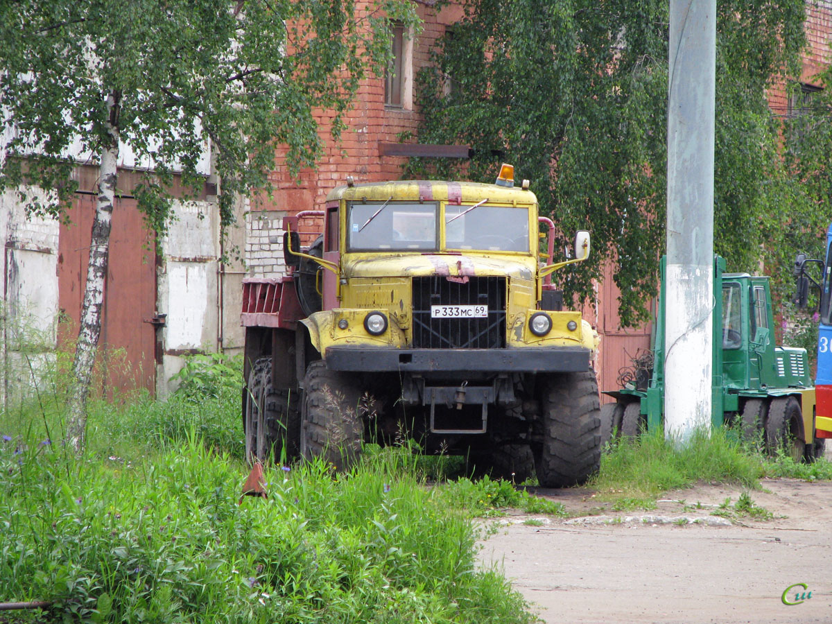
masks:
<path fill-rule="evenodd" d="M 428 487 L 436 462 L 368 448 L 349 473 L 271 466 L 269 498 L 238 505 L 234 384 L 198 401 L 187 384 L 166 403 L 97 400 L 83 458 L 64 453 L 43 396 L 0 418 L 0 597 L 53 605 L 22 622 L 533 620 L 500 572 L 475 566 L 471 518 L 554 503 L 490 479 Z"/>

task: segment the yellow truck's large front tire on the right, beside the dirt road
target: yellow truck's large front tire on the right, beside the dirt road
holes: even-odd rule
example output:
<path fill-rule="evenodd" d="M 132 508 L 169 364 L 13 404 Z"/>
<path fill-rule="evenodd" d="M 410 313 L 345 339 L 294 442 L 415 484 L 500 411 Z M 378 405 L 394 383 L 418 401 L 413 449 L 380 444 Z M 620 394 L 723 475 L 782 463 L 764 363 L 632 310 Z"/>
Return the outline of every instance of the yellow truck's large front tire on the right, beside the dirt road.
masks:
<path fill-rule="evenodd" d="M 595 372 L 541 379 L 542 444 L 534 464 L 544 488 L 584 483 L 601 461 L 601 409 Z"/>

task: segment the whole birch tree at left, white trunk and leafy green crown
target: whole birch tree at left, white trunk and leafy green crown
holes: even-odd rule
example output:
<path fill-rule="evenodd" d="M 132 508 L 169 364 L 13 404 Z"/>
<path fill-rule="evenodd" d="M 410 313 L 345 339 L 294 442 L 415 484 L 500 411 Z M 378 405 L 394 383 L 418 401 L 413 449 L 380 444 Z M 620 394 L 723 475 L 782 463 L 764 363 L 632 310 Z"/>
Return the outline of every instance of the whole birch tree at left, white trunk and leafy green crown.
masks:
<path fill-rule="evenodd" d="M 389 20 L 406 0 L 13 0 L 0 2 L 0 115 L 11 135 L 0 191 L 64 217 L 79 161 L 99 168 L 82 318 L 67 398 L 67 443 L 84 447 L 101 329 L 119 151 L 151 171 L 133 190 L 164 234 L 172 176 L 196 193 L 206 150 L 220 178 L 223 228 L 235 196 L 269 188 L 275 150 L 290 170 L 322 148 L 313 111 L 337 137 L 359 81 L 386 62 Z M 28 189 L 51 191 L 37 199 Z"/>

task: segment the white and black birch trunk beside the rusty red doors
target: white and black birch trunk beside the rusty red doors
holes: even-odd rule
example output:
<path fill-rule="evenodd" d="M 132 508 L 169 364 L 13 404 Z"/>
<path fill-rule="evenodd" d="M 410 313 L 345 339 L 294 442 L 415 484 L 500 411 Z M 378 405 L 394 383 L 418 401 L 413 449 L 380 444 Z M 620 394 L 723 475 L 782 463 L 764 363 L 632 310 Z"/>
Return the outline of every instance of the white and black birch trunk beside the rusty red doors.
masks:
<path fill-rule="evenodd" d="M 96 361 L 98 338 L 102 329 L 112 208 L 116 195 L 120 99 L 118 92 L 111 92 L 107 97 L 107 106 L 110 110 L 110 120 L 106 126 L 108 140 L 102 146 L 101 164 L 98 170 L 98 198 L 95 219 L 92 221 L 87 285 L 84 288 L 75 359 L 72 361 L 72 384 L 67 398 L 67 444 L 75 450 L 75 453 L 82 453 L 86 443 L 87 396 L 90 392 L 92 367 Z"/>

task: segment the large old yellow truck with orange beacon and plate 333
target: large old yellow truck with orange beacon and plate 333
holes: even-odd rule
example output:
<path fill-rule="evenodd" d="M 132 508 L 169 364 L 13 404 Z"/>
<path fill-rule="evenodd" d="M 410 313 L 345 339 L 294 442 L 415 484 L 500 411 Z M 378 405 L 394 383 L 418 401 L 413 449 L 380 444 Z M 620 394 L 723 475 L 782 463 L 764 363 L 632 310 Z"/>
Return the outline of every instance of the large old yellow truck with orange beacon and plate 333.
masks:
<path fill-rule="evenodd" d="M 310 217 L 323 231 L 302 249 Z M 344 468 L 366 441 L 414 439 L 518 482 L 585 481 L 597 334 L 551 275 L 590 237 L 554 262 L 553 229 L 511 166 L 495 184 L 348 178 L 287 218 L 289 275 L 244 283 L 247 456 Z"/>

